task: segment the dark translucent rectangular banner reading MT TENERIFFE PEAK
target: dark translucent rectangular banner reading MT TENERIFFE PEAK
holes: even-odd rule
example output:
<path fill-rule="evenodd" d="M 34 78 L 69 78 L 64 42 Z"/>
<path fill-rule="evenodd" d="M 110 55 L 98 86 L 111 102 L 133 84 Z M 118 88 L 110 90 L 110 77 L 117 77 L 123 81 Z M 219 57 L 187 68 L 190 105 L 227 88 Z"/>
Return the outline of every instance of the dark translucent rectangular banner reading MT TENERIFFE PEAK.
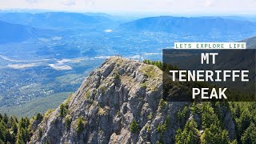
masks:
<path fill-rule="evenodd" d="M 255 52 L 165 49 L 163 98 L 172 102 L 255 102 Z"/>

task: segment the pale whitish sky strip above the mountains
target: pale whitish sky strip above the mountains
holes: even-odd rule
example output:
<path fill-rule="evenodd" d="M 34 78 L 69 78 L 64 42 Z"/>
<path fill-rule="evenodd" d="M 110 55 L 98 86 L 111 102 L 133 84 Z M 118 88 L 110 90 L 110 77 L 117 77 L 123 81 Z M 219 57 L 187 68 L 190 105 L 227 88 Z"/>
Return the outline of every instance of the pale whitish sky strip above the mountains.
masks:
<path fill-rule="evenodd" d="M 256 14 L 256 0 L 0 0 L 0 9 L 151 14 Z"/>

